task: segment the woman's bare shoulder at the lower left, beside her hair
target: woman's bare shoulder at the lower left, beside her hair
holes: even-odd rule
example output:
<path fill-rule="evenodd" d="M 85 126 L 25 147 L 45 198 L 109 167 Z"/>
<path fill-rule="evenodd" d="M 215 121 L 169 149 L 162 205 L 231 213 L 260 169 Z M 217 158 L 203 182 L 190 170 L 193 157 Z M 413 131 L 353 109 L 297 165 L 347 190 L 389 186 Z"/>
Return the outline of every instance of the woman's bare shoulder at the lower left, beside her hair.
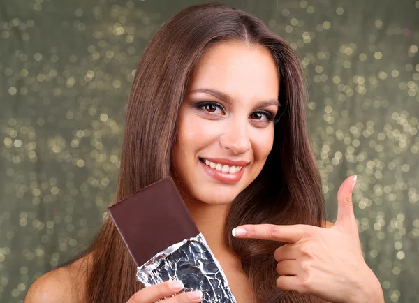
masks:
<path fill-rule="evenodd" d="M 32 283 L 24 303 L 75 303 L 84 294 L 85 275 L 91 256 L 87 255 L 68 267 L 43 274 Z"/>

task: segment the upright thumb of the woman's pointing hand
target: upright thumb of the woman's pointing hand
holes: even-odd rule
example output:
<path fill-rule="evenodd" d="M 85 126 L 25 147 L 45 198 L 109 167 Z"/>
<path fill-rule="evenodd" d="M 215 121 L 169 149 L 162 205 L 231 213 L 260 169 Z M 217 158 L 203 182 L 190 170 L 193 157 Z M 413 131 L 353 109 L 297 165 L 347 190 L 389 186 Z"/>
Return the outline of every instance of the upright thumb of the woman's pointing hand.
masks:
<path fill-rule="evenodd" d="M 355 226 L 358 233 L 352 204 L 352 193 L 356 179 L 356 175 L 346 178 L 337 191 L 337 219 L 335 226 L 344 226 L 348 230 L 352 230 L 353 226 Z"/>

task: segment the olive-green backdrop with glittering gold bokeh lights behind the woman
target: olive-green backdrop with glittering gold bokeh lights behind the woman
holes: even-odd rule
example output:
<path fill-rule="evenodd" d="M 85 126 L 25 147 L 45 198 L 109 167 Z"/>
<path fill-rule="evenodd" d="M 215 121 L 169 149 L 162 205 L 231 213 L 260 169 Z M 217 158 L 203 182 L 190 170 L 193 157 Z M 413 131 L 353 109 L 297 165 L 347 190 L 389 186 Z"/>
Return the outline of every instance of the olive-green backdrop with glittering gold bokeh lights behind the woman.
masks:
<path fill-rule="evenodd" d="M 138 60 L 203 1 L 0 1 L 0 302 L 107 218 Z M 419 1 L 221 1 L 288 40 L 309 83 L 328 219 L 357 174 L 362 249 L 386 302 L 419 302 Z"/>

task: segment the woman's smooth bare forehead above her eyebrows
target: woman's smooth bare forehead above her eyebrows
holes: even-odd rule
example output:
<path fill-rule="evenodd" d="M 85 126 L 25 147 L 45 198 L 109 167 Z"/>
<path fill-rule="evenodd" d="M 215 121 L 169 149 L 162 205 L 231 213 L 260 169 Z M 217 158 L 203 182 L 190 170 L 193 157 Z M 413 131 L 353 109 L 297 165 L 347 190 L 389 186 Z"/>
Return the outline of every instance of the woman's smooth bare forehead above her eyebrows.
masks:
<path fill-rule="evenodd" d="M 278 96 L 279 75 L 267 47 L 228 41 L 208 47 L 191 73 L 191 89 L 208 86 L 272 97 Z"/>

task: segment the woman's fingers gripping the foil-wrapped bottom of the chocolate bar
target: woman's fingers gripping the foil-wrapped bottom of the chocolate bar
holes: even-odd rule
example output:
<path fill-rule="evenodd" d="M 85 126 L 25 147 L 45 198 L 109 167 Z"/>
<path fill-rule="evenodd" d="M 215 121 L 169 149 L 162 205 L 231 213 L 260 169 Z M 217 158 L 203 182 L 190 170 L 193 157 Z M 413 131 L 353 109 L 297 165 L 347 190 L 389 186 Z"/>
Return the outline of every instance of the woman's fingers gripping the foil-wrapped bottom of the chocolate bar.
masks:
<path fill-rule="evenodd" d="M 157 300 L 161 300 L 165 297 L 170 297 L 179 293 L 183 288 L 183 283 L 179 281 L 166 281 L 153 286 L 148 286 L 142 288 L 126 303 L 152 303 Z M 192 291 L 189 293 L 180 293 L 175 295 L 175 297 L 170 297 L 169 299 L 163 300 L 163 303 L 191 303 L 191 302 L 201 302 L 202 293 L 200 291 Z"/>

